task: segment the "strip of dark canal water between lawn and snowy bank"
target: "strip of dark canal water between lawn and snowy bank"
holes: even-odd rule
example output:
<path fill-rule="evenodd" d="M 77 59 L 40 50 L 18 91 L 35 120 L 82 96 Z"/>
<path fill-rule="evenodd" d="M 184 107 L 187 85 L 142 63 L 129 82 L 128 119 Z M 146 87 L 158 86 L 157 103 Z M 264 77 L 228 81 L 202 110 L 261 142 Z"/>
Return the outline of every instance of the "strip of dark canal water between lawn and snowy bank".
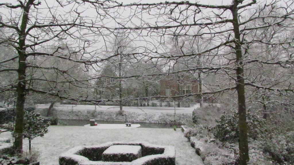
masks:
<path fill-rule="evenodd" d="M 98 124 L 125 124 L 125 122 L 105 122 L 105 121 L 95 121 Z M 89 124 L 89 120 L 66 120 L 58 119 L 59 125 L 68 126 L 84 126 Z M 163 124 L 163 123 L 132 123 L 140 124 L 139 128 L 173 128 L 173 124 Z M 176 124 L 176 128 L 181 128 L 181 124 Z"/>

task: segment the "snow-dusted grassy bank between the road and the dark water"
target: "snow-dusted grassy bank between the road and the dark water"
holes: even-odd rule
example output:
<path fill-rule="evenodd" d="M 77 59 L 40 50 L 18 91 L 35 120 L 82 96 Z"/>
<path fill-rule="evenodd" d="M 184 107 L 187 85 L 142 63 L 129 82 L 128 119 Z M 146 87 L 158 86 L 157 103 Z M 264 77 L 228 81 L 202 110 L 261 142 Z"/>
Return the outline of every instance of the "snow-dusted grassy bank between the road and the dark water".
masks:
<path fill-rule="evenodd" d="M 41 115 L 46 114 L 46 109 L 37 109 Z M 98 110 L 56 110 L 54 113 L 58 119 L 88 120 L 94 118 L 96 121 L 117 121 L 117 122 L 142 122 L 142 123 L 173 123 L 172 113 L 143 113 L 123 111 L 98 111 Z M 176 114 L 176 124 L 185 124 L 191 120 L 189 114 Z"/>

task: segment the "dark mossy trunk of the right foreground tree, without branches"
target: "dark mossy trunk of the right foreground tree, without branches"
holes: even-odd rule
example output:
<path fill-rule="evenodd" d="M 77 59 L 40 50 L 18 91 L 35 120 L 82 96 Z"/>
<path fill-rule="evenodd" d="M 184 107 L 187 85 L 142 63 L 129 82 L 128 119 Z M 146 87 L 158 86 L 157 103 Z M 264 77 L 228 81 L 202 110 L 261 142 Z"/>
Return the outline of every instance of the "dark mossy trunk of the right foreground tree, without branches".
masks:
<path fill-rule="evenodd" d="M 238 23 L 238 0 L 234 0 L 232 6 L 233 27 L 235 34 L 235 54 L 236 54 L 236 75 L 237 75 L 237 91 L 238 91 L 238 113 L 239 113 L 239 156 L 240 165 L 246 165 L 249 161 L 248 154 L 248 134 L 246 121 L 246 107 L 245 107 L 245 85 L 244 85 L 244 70 L 242 60 L 242 50 L 240 45 L 240 30 Z"/>

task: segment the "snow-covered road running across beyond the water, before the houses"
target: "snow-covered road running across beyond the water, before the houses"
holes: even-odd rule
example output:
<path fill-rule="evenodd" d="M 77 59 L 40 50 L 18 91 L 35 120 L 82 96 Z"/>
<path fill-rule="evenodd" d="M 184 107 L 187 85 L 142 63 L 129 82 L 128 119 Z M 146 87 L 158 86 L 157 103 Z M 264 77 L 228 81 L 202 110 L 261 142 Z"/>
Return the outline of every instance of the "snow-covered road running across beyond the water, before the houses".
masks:
<path fill-rule="evenodd" d="M 198 105 L 194 105 L 193 107 L 189 108 L 178 108 L 176 107 L 176 113 L 178 114 L 192 114 L 194 108 Z M 49 104 L 38 104 L 36 108 L 48 108 Z M 66 105 L 66 104 L 56 104 L 54 108 L 57 110 L 95 110 L 95 105 Z M 96 110 L 101 111 L 118 111 L 118 106 L 107 106 L 107 105 L 100 105 L 96 106 Z M 146 112 L 146 113 L 174 113 L 174 107 L 123 107 L 124 111 L 128 112 Z"/>

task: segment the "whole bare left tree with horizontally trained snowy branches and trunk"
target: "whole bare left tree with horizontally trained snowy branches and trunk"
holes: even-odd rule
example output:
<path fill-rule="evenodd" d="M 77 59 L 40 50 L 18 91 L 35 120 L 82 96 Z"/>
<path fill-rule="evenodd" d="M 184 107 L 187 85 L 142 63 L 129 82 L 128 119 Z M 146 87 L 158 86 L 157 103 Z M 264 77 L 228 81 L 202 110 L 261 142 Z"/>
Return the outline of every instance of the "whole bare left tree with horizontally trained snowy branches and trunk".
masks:
<path fill-rule="evenodd" d="M 75 8 L 64 11 L 64 13 L 57 14 L 53 9 L 57 7 L 63 7 L 71 5 L 68 3 L 48 4 L 46 1 L 41 4 L 40 1 L 18 1 L 16 4 L 0 3 L 1 15 L 0 15 L 0 28 L 9 29 L 8 33 L 2 33 L 0 43 L 2 46 L 12 49 L 16 52 L 14 57 L 6 60 L 1 60 L 1 65 L 8 66 L 9 63 L 17 60 L 16 66 L 11 68 L 5 68 L 0 72 L 11 73 L 16 77 L 16 81 L 11 81 L 9 84 L 1 84 L 1 92 L 8 90 L 16 91 L 16 124 L 14 129 L 15 141 L 14 149 L 18 152 L 22 152 L 22 139 L 23 139 L 23 123 L 24 123 L 24 105 L 26 95 L 29 91 L 39 93 L 49 93 L 50 95 L 61 97 L 59 91 L 52 87 L 50 90 L 42 90 L 41 87 L 37 87 L 34 84 L 34 69 L 43 70 L 44 72 L 55 72 L 60 75 L 66 75 L 66 70 L 51 65 L 50 67 L 42 66 L 34 63 L 29 63 L 31 58 L 38 56 L 56 57 L 59 59 L 68 59 L 71 61 L 79 61 L 71 57 L 72 52 L 67 54 L 59 54 L 60 50 L 64 48 L 55 46 L 53 53 L 42 52 L 44 48 L 48 47 L 50 43 L 58 45 L 66 37 L 76 38 L 74 29 L 77 25 L 81 24 L 81 19 L 77 19 L 79 13 L 75 12 Z M 39 10 L 48 12 L 48 15 L 42 15 Z M 72 11 L 71 11 L 72 10 Z M 64 16 L 63 16 L 64 14 Z M 67 18 L 68 14 L 71 14 L 71 18 Z M 2 30 L 1 30 L 2 32 Z M 69 41 L 67 41 L 69 42 Z M 71 42 L 71 46 L 74 42 Z M 70 47 L 70 46 L 67 46 Z M 79 48 L 76 50 L 78 51 Z M 30 68 L 30 69 L 29 69 Z M 69 74 L 68 74 L 69 75 Z M 69 81 L 69 78 L 65 78 L 67 83 L 75 84 L 78 78 L 73 78 Z M 50 82 L 39 78 L 39 80 Z M 55 81 L 56 82 L 56 81 Z M 66 98 L 66 97 L 63 97 Z M 77 100 L 77 99 L 76 99 Z"/>

